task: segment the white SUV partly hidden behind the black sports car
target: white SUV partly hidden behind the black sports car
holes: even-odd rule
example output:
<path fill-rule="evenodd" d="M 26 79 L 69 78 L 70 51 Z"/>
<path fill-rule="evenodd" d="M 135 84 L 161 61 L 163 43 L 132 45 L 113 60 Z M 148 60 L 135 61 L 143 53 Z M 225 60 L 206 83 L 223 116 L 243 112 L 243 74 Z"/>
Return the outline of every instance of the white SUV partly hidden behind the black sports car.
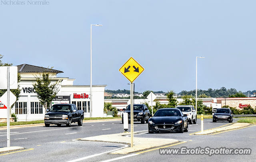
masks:
<path fill-rule="evenodd" d="M 197 116 L 196 110 L 192 105 L 178 105 L 176 108 L 180 109 L 183 114 L 187 114 L 189 124 L 196 124 Z"/>

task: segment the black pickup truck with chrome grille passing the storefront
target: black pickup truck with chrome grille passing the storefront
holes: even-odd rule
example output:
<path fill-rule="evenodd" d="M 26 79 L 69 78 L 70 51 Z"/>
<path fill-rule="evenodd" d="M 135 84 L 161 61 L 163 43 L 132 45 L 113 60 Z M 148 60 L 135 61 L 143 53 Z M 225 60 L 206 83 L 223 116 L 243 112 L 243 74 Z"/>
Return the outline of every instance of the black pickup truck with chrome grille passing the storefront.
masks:
<path fill-rule="evenodd" d="M 66 124 L 71 126 L 71 123 L 78 123 L 78 126 L 82 126 L 84 119 L 84 110 L 77 110 L 75 104 L 54 104 L 50 110 L 46 110 L 48 113 L 44 116 L 44 124 L 49 127 L 50 124 Z"/>

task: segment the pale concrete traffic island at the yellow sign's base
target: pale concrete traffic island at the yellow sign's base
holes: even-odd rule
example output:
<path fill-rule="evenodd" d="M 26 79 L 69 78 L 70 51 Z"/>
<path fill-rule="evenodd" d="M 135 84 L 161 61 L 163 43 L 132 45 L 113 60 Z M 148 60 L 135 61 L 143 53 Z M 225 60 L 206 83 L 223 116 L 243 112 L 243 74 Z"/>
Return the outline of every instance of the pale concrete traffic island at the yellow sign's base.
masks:
<path fill-rule="evenodd" d="M 92 136 L 87 138 L 81 138 L 79 140 L 83 141 L 97 141 L 97 142 L 112 142 L 112 143 L 124 143 L 129 144 L 131 143 L 131 137 L 126 137 L 130 133 L 118 133 L 118 134 L 107 134 L 107 135 L 100 135 L 100 136 Z M 136 132 L 134 132 L 136 134 Z M 146 150 L 149 148 L 154 148 L 158 146 L 164 146 L 168 144 L 174 144 L 179 142 L 178 140 L 174 139 L 165 139 L 165 138 L 139 138 L 134 137 L 134 146 L 126 147 L 120 150 L 116 150 L 114 152 L 110 152 L 110 154 L 128 154 L 131 152 L 137 152 L 141 150 Z"/>

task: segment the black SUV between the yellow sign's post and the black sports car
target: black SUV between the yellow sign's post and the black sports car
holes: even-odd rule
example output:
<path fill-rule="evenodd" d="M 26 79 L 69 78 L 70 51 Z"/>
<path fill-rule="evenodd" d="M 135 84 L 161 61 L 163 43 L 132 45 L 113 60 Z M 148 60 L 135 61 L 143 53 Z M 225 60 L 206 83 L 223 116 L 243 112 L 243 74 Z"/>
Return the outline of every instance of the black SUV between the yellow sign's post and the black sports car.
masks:
<path fill-rule="evenodd" d="M 128 105 L 124 112 L 128 113 L 128 121 L 131 120 L 131 107 Z M 133 104 L 133 120 L 138 121 L 141 124 L 144 124 L 145 121 L 148 123 L 148 119 L 150 118 L 151 114 L 148 110 L 148 107 L 145 104 Z M 122 115 L 122 123 L 124 123 L 124 117 Z"/>

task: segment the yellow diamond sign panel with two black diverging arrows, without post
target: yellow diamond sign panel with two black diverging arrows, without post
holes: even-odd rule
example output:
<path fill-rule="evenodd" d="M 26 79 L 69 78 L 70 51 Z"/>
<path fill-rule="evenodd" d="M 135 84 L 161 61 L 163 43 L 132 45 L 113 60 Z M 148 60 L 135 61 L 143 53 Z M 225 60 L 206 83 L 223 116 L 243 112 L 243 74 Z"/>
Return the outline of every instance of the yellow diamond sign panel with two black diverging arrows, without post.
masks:
<path fill-rule="evenodd" d="M 144 68 L 134 58 L 129 58 L 128 61 L 119 69 L 119 71 L 128 79 L 130 82 L 134 80 L 144 71 Z"/>

